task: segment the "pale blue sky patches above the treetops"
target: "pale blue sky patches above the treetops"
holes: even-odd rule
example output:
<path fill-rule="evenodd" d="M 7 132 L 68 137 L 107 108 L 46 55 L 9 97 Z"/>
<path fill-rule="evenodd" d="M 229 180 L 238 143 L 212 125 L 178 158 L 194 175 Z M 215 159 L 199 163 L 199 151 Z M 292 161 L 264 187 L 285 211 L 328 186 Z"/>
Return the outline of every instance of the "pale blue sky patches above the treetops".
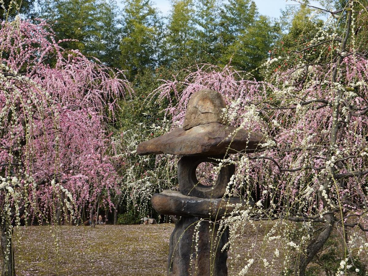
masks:
<path fill-rule="evenodd" d="M 279 17 L 280 9 L 284 9 L 286 5 L 298 4 L 291 0 L 254 0 L 259 13 L 262 15 L 268 15 L 269 17 Z M 169 0 L 153 0 L 155 7 L 158 7 L 164 15 L 167 15 L 170 11 L 170 1 Z M 311 1 L 311 5 L 319 6 L 316 1 Z"/>

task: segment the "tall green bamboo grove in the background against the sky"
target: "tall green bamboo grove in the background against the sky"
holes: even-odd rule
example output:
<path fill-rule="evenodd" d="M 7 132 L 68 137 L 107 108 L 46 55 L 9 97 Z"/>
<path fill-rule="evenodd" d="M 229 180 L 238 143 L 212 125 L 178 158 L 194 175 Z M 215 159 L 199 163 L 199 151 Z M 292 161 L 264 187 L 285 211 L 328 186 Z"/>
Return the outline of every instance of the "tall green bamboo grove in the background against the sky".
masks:
<path fill-rule="evenodd" d="M 198 63 L 231 61 L 252 71 L 267 59 L 275 37 L 275 26 L 250 0 L 175 0 L 167 18 L 150 0 L 125 1 L 122 11 L 113 0 L 42 0 L 39 9 L 57 39 L 68 39 L 64 48 L 123 69 L 130 81 Z"/>

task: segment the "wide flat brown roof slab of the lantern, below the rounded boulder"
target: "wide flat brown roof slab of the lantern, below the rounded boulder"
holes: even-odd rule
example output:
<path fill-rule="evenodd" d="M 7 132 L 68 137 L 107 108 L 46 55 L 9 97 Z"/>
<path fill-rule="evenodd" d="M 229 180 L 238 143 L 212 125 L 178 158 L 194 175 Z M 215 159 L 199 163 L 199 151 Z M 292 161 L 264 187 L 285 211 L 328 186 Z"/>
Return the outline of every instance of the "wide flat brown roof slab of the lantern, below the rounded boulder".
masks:
<path fill-rule="evenodd" d="M 230 137 L 229 137 L 230 135 Z M 194 126 L 189 130 L 174 129 L 163 136 L 142 142 L 137 147 L 139 155 L 176 154 L 180 156 L 220 156 L 240 151 L 251 153 L 261 150 L 259 143 L 266 143 L 262 135 L 220 123 Z M 230 146 L 230 150 L 227 148 Z"/>

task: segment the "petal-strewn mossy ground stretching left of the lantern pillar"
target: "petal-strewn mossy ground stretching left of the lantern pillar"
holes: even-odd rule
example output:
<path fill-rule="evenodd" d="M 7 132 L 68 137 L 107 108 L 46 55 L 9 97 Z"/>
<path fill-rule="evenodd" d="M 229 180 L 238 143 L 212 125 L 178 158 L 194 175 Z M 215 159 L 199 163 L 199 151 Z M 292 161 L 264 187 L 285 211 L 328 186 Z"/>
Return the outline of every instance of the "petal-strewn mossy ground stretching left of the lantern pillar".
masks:
<path fill-rule="evenodd" d="M 15 241 L 17 275 L 164 275 L 172 224 L 32 226 Z"/>

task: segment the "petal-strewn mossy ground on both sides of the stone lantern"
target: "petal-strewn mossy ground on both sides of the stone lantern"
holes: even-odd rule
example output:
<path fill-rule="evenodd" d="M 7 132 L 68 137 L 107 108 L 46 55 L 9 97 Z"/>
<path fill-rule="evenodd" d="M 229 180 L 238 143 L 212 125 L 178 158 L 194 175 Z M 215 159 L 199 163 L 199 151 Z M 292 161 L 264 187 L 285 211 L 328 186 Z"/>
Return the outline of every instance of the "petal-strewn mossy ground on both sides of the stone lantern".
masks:
<path fill-rule="evenodd" d="M 13 241 L 16 272 L 18 276 L 166 275 L 173 228 L 174 224 L 101 225 L 94 229 L 21 227 L 15 231 Z M 256 261 L 245 275 L 282 274 L 282 256 L 290 248 L 280 242 L 264 245 L 263 238 L 269 228 L 267 223 L 256 228 L 245 226 L 247 230 L 236 238 L 229 251 L 229 275 L 238 275 L 251 258 Z M 275 248 L 280 251 L 280 259 L 273 263 L 272 269 L 265 268 L 263 259 L 271 262 Z"/>

